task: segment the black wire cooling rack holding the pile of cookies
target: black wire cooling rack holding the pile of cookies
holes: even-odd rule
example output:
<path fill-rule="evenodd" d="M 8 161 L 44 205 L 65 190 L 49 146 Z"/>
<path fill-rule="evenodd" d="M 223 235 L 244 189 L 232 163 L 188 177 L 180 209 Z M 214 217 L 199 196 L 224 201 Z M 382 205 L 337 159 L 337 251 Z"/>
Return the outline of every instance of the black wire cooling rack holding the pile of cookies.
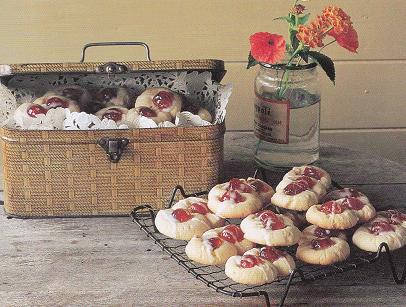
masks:
<path fill-rule="evenodd" d="M 260 169 L 255 172 L 255 177 L 261 173 L 262 177 L 266 180 L 266 173 Z M 335 187 L 340 187 L 339 184 L 334 183 Z M 191 196 L 206 195 L 207 192 L 199 192 L 193 194 L 186 194 L 183 187 L 177 186 L 173 190 L 170 201 L 167 208 L 170 208 L 174 203 L 178 193 L 183 198 Z M 389 264 L 389 268 L 393 275 L 393 279 L 397 284 L 404 284 L 406 279 L 406 262 L 403 265 L 403 271 L 401 274 L 397 273 L 395 263 L 393 261 L 394 256 L 402 255 L 402 259 L 406 258 L 406 248 L 402 248 L 395 252 L 389 251 L 389 247 L 386 243 L 382 243 L 376 253 L 369 253 L 351 246 L 350 257 L 341 263 L 334 265 L 311 265 L 303 263 L 295 258 L 295 247 L 285 248 L 290 255 L 296 260 L 296 269 L 291 272 L 290 275 L 279 278 L 272 284 L 265 284 L 262 286 L 246 286 L 236 283 L 229 279 L 224 273 L 224 266 L 217 265 L 200 265 L 188 259 L 185 253 L 185 246 L 187 241 L 174 240 L 160 234 L 155 227 L 154 220 L 157 210 L 154 210 L 149 205 L 141 205 L 131 213 L 133 221 L 139 226 L 139 228 L 146 233 L 146 235 L 163 251 L 168 253 L 172 259 L 174 259 L 180 266 L 186 269 L 188 273 L 193 275 L 196 279 L 202 281 L 208 287 L 214 289 L 216 292 L 229 295 L 232 297 L 252 297 L 263 296 L 266 306 L 271 305 L 271 301 L 268 295 L 270 287 L 274 284 L 280 284 L 284 286 L 283 293 L 281 295 L 279 306 L 283 306 L 286 297 L 288 296 L 289 289 L 292 285 L 301 282 L 312 282 L 318 279 L 323 279 L 329 276 L 333 276 L 339 273 L 343 273 L 350 270 L 356 270 L 362 266 L 376 262 L 380 258 L 385 258 Z M 229 223 L 229 221 L 227 221 Z M 395 255 L 396 254 L 396 255 Z"/>

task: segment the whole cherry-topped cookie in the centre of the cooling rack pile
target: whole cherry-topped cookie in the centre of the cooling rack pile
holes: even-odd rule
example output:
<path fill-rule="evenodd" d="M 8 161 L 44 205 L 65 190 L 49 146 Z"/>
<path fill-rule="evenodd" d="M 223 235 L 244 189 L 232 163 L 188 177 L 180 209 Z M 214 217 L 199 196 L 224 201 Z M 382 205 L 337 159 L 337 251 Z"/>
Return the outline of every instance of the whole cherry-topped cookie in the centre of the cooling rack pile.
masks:
<path fill-rule="evenodd" d="M 244 238 L 267 246 L 291 246 L 301 236 L 291 219 L 271 210 L 250 214 L 242 220 L 240 227 Z"/>

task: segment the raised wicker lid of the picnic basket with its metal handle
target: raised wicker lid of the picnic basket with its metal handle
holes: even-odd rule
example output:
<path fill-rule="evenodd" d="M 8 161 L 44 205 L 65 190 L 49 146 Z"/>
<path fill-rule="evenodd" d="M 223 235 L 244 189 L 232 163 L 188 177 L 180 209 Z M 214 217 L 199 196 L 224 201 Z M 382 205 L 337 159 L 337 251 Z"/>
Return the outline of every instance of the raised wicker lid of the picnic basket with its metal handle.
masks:
<path fill-rule="evenodd" d="M 125 62 L 85 62 L 85 52 L 95 46 L 141 45 L 145 47 L 147 61 Z M 144 42 L 101 42 L 89 43 L 82 49 L 80 62 L 71 63 L 28 63 L 0 64 L 0 77 L 16 74 L 47 74 L 47 73 L 125 73 L 142 71 L 211 71 L 213 79 L 221 81 L 225 75 L 224 61 L 214 59 L 198 60 L 160 60 L 152 61 L 150 49 Z"/>

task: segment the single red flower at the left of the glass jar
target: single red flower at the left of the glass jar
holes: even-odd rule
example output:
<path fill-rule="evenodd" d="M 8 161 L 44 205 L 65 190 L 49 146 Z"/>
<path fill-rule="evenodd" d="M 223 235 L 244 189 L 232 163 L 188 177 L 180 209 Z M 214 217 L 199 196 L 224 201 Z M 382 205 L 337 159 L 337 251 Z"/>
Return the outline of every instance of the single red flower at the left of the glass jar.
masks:
<path fill-rule="evenodd" d="M 251 55 L 258 62 L 275 64 L 285 56 L 286 42 L 283 36 L 257 32 L 250 36 Z"/>

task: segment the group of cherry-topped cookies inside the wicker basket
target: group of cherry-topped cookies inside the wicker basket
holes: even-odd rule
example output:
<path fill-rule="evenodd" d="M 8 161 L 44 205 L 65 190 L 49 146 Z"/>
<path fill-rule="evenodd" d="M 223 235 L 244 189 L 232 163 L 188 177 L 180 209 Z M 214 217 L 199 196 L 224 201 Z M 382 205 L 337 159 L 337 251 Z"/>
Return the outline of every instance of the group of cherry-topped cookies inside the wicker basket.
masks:
<path fill-rule="evenodd" d="M 23 103 L 16 109 L 14 119 L 17 124 L 24 126 L 27 120 L 56 108 L 95 114 L 101 120 L 113 120 L 117 125 L 132 123 L 139 116 L 148 117 L 157 124 L 174 123 L 179 112 L 190 112 L 207 122 L 213 120 L 208 110 L 168 88 L 147 88 L 136 96 L 124 87 L 88 90 L 78 85 L 60 86 L 32 102 Z"/>

